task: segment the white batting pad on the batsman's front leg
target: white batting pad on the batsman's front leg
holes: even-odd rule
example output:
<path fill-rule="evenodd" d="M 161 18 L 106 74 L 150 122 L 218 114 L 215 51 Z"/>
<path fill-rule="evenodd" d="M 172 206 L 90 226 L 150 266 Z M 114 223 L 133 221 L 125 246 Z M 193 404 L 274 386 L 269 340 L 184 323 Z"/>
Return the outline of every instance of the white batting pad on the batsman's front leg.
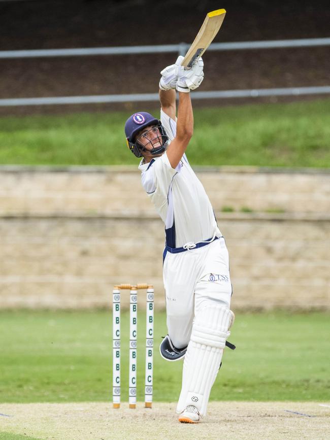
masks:
<path fill-rule="evenodd" d="M 206 415 L 231 319 L 229 309 L 219 306 L 206 307 L 195 316 L 183 364 L 178 413 L 194 405 L 201 416 Z"/>

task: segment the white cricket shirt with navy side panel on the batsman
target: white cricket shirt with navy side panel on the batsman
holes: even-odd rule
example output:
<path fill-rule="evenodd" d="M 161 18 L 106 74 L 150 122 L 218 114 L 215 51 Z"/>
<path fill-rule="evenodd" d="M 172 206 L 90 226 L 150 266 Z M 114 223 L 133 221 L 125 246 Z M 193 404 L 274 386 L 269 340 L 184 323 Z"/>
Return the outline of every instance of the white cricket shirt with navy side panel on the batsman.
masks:
<path fill-rule="evenodd" d="M 176 135 L 176 122 L 162 110 L 160 120 L 169 141 Z M 171 248 L 221 236 L 209 197 L 184 154 L 174 169 L 165 152 L 149 163 L 141 161 L 142 185 L 165 225 Z"/>

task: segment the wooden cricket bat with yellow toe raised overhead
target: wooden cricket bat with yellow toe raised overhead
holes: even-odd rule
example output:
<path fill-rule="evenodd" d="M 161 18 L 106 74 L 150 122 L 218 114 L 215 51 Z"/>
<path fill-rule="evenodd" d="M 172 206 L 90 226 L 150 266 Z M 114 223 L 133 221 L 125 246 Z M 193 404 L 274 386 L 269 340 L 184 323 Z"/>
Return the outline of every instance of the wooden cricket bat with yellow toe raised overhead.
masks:
<path fill-rule="evenodd" d="M 217 9 L 216 11 L 207 13 L 202 27 L 199 33 L 197 33 L 186 56 L 183 58 L 181 65 L 189 68 L 196 59 L 201 58 L 217 35 L 225 15 L 225 9 Z"/>

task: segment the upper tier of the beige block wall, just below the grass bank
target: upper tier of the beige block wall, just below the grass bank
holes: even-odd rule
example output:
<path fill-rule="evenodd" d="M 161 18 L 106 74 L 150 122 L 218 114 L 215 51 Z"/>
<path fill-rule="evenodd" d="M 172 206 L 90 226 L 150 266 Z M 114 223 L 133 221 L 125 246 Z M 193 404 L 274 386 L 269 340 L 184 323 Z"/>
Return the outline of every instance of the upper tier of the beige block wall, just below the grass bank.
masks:
<path fill-rule="evenodd" d="M 330 213 L 330 170 L 195 167 L 214 211 Z M 0 167 L 0 215 L 154 214 L 132 167 Z"/>

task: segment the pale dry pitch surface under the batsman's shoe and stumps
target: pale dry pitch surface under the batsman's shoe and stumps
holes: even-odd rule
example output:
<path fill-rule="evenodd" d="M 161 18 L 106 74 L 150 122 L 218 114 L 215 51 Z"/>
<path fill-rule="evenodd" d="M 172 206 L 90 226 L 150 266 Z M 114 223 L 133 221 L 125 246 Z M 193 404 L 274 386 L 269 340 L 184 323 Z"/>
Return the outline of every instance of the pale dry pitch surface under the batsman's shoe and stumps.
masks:
<path fill-rule="evenodd" d="M 127 403 L 119 410 L 111 406 L 0 404 L 0 434 L 7 432 L 8 440 L 11 433 L 56 440 L 330 438 L 330 403 L 211 402 L 208 416 L 196 425 L 180 424 L 174 403 L 156 402 L 152 410 L 142 403 L 136 410 L 129 410 Z"/>

